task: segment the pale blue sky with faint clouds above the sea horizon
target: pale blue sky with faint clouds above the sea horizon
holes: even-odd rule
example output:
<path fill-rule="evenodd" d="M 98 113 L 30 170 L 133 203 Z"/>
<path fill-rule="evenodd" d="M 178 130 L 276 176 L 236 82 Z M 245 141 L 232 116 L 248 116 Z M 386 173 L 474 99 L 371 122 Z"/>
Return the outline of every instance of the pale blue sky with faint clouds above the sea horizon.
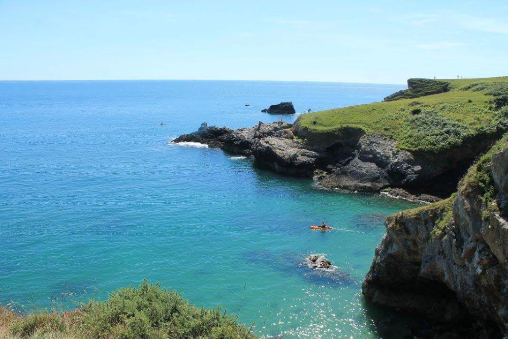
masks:
<path fill-rule="evenodd" d="M 508 1 L 0 0 L 0 80 L 508 75 Z"/>

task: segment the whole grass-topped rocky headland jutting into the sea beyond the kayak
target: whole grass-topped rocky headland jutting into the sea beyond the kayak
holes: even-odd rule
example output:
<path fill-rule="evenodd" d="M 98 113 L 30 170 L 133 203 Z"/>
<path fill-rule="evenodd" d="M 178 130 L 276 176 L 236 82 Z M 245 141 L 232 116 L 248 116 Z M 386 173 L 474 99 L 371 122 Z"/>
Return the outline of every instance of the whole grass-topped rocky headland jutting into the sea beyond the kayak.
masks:
<path fill-rule="evenodd" d="M 411 98 L 443 86 L 436 81 L 433 87 L 429 81 L 433 82 L 410 79 Z M 504 85 L 508 88 L 508 81 L 494 82 L 488 89 Z M 489 103 L 496 97 L 477 87 L 470 84 L 452 91 L 448 83 L 446 93 L 419 101 L 393 99 L 303 114 L 295 124 L 260 121 L 238 130 L 205 125 L 173 142 L 200 142 L 251 156 L 276 172 L 315 178 L 325 189 L 384 191 L 392 197 L 435 202 L 436 196 L 450 196 L 473 161 L 508 130 L 508 115 Z M 478 111 L 485 111 L 482 119 Z M 366 118 L 373 125 L 360 124 Z M 467 126 L 466 118 L 471 119 Z"/>

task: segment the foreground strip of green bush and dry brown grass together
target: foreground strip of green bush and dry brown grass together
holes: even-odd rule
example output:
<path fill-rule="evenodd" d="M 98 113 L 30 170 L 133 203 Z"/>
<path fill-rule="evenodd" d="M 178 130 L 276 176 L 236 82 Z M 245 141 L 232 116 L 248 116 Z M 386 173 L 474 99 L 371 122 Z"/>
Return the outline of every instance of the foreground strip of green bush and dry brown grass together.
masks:
<path fill-rule="evenodd" d="M 199 309 L 174 291 L 144 281 L 81 310 L 16 317 L 0 310 L 0 337 L 31 338 L 254 338 L 220 307 Z M 2 328 L 3 326 L 3 328 Z"/>

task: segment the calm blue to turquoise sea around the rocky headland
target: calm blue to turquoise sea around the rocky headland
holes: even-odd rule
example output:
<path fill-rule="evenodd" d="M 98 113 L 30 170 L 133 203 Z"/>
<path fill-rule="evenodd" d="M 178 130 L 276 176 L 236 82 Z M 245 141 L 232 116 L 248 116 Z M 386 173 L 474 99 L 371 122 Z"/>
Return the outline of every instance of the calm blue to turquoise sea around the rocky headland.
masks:
<path fill-rule="evenodd" d="M 203 121 L 238 128 L 278 120 L 259 110 L 283 100 L 315 111 L 399 89 L 0 82 L 0 302 L 29 311 L 72 293 L 72 308 L 146 278 L 199 305 L 222 304 L 260 334 L 376 337 L 378 311 L 363 301 L 361 282 L 385 215 L 411 204 L 316 190 L 249 159 L 168 141 Z M 336 229 L 309 231 L 321 221 Z M 301 267 L 312 253 L 326 254 L 338 273 Z"/>

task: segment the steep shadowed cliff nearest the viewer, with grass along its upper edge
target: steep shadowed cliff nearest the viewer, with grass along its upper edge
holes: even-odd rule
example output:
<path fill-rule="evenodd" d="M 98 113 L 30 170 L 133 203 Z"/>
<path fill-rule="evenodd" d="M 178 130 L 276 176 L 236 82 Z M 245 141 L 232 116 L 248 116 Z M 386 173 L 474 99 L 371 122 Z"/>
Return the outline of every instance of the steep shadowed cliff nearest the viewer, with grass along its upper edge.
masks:
<path fill-rule="evenodd" d="M 508 330 L 508 139 L 456 195 L 392 215 L 362 286 L 371 301 L 438 321 L 472 319 L 484 337 Z"/>

